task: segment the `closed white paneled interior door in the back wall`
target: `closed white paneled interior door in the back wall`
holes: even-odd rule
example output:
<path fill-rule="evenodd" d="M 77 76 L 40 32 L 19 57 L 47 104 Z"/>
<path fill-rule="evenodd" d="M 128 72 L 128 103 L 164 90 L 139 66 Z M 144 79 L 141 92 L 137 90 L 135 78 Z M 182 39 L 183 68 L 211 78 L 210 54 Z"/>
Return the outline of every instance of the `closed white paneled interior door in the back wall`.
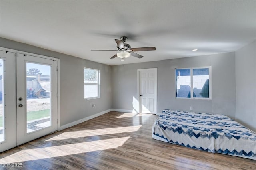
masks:
<path fill-rule="evenodd" d="M 139 69 L 140 113 L 157 113 L 157 68 Z"/>

